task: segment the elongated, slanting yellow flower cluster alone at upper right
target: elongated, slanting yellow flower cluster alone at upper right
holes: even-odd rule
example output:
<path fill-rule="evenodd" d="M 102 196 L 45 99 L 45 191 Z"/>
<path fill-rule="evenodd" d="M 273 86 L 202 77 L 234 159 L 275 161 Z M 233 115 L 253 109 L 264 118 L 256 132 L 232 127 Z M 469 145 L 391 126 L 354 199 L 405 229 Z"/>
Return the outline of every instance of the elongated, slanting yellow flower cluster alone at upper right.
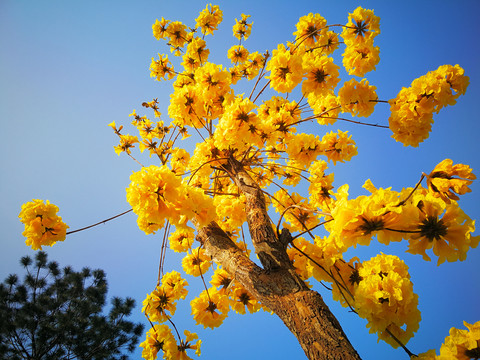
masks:
<path fill-rule="evenodd" d="M 453 105 L 465 94 L 468 76 L 459 65 L 442 65 L 435 71 L 415 79 L 409 88 L 402 88 L 390 100 L 389 120 L 392 137 L 408 146 L 418 146 L 428 138 L 433 113 Z"/>

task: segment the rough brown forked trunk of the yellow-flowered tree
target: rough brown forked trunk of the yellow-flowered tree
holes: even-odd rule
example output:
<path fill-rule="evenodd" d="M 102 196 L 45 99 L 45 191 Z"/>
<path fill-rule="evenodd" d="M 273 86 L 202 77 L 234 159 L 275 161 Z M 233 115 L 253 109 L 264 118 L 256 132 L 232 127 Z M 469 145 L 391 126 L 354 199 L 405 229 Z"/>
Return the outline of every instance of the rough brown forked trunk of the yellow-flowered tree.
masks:
<path fill-rule="evenodd" d="M 295 273 L 286 253 L 288 233 L 275 234 L 260 187 L 235 159 L 230 159 L 226 170 L 246 196 L 247 222 L 263 268 L 247 258 L 214 222 L 197 235 L 207 254 L 282 319 L 308 359 L 360 359 L 320 294 Z"/>

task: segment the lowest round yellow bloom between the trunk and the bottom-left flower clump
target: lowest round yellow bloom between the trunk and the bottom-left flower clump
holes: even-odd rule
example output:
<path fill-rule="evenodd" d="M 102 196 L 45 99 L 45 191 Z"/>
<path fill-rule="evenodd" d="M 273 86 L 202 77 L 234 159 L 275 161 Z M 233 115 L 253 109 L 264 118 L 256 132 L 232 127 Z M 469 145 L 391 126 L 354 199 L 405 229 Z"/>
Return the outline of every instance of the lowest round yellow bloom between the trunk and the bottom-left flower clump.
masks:
<path fill-rule="evenodd" d="M 221 294 L 216 288 L 203 290 L 198 298 L 190 302 L 193 319 L 197 325 L 214 329 L 223 323 L 228 316 L 228 296 Z"/>

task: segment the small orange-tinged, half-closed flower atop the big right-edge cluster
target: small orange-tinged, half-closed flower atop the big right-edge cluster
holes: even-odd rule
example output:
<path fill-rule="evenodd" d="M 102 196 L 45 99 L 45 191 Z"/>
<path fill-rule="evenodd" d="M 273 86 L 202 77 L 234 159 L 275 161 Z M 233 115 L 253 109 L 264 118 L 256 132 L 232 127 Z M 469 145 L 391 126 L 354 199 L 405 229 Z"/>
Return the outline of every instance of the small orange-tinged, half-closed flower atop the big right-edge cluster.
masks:
<path fill-rule="evenodd" d="M 476 178 L 470 166 L 453 165 L 451 159 L 445 159 L 427 175 L 427 185 L 433 196 L 440 197 L 443 201 L 449 203 L 450 199 L 460 199 L 456 194 L 464 195 L 470 192 L 468 186 Z"/>

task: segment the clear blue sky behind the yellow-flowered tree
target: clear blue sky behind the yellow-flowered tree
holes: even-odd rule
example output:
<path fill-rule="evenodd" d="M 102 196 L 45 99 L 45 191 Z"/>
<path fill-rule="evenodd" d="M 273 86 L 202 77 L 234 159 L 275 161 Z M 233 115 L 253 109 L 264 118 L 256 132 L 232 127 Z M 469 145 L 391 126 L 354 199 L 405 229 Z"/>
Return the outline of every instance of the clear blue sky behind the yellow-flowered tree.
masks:
<path fill-rule="evenodd" d="M 60 208 L 70 229 L 106 219 L 129 208 L 125 187 L 138 165 L 117 156 L 117 138 L 107 126 L 126 124 L 133 109 L 158 98 L 167 120 L 170 84 L 149 76 L 150 59 L 168 51 L 154 39 L 151 25 L 162 16 L 194 25 L 203 1 L 17 1 L 0 2 L 0 279 L 21 272 L 18 260 L 33 251 L 24 244 L 17 216 L 31 199 L 49 199 Z M 422 171 L 429 172 L 444 158 L 473 167 L 480 175 L 478 158 L 478 102 L 480 63 L 478 1 L 220 1 L 224 22 L 215 37 L 208 38 L 210 59 L 226 62 L 228 47 L 237 44 L 231 26 L 241 13 L 254 22 L 250 51 L 264 52 L 292 40 L 299 17 L 320 13 L 328 23 L 346 22 L 348 12 L 361 5 L 374 9 L 381 19 L 377 71 L 366 75 L 377 86 L 380 99 L 396 96 L 402 86 L 443 64 L 459 64 L 470 76 L 470 86 L 457 105 L 434 116 L 430 138 L 419 148 L 405 148 L 390 138 L 389 130 L 337 122 L 326 129 L 348 130 L 359 149 L 350 163 L 334 168 L 336 186 L 349 183 L 352 196 L 363 193 L 368 178 L 376 186 L 400 190 L 413 186 Z M 214 53 L 216 52 L 216 55 Z M 341 65 L 342 50 L 335 54 Z M 342 80 L 348 80 L 343 73 Z M 378 104 L 370 118 L 387 124 L 388 106 Z M 148 163 L 148 157 L 142 158 Z M 460 204 L 472 218 L 479 218 L 480 187 Z M 478 234 L 478 231 L 476 232 Z M 67 237 L 45 248 L 61 265 L 102 268 L 107 272 L 109 295 L 130 296 L 137 301 L 136 321 L 145 322 L 140 306 L 156 283 L 161 235 L 145 236 L 134 214 L 86 232 Z M 352 256 L 369 259 L 379 251 L 397 254 L 410 267 L 414 290 L 420 297 L 420 330 L 408 344 L 413 352 L 438 349 L 450 327 L 462 321 L 480 320 L 480 250 L 467 261 L 424 262 L 405 254 L 404 243 L 389 247 L 358 248 Z M 179 269 L 179 258 L 169 253 L 166 269 Z M 200 283 L 188 279 L 191 294 Z M 368 334 L 365 321 L 331 301 L 350 341 L 364 359 L 406 359 Z M 180 328 L 198 331 L 207 359 L 300 359 L 303 352 L 293 335 L 276 317 L 265 313 L 230 315 L 219 329 L 204 331 L 194 325 L 188 302 L 179 305 L 175 322 Z M 133 358 L 140 357 L 140 351 Z"/>

